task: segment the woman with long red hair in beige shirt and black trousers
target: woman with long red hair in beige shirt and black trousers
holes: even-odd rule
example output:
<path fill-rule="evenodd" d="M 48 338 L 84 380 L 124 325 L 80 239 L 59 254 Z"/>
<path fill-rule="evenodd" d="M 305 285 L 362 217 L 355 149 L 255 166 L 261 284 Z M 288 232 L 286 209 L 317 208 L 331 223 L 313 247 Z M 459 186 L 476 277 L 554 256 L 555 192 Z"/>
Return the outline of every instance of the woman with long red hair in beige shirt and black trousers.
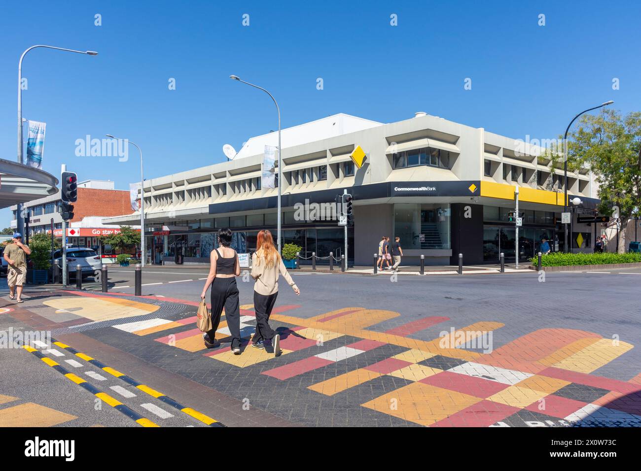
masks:
<path fill-rule="evenodd" d="M 274 247 L 272 233 L 267 229 L 258 232 L 256 252 L 251 256 L 251 277 L 254 279 L 254 312 L 256 313 L 256 332 L 252 338 L 252 346 L 265 349 L 274 356 L 279 356 L 280 336 L 269 326 L 269 316 L 272 313 L 278 296 L 278 276 L 282 275 L 294 293 L 301 291 L 287 272 L 280 254 Z M 267 345 L 265 345 L 267 343 Z M 268 348 L 269 347 L 269 348 Z"/>

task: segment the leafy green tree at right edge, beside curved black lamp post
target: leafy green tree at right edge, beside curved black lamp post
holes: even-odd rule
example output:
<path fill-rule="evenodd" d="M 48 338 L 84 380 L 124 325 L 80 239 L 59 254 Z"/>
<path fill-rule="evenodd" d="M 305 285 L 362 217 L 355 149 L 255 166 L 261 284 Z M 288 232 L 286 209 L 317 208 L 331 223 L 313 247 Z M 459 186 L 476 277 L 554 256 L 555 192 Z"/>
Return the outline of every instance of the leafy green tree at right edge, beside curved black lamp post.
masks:
<path fill-rule="evenodd" d="M 570 139 L 569 139 L 570 141 Z M 624 252 L 628 221 L 641 208 L 641 112 L 622 117 L 616 110 L 583 115 L 568 144 L 568 166 L 586 166 L 599 184 L 599 211 L 619 206 L 619 252 Z M 623 238 L 623 240 L 621 240 Z"/>

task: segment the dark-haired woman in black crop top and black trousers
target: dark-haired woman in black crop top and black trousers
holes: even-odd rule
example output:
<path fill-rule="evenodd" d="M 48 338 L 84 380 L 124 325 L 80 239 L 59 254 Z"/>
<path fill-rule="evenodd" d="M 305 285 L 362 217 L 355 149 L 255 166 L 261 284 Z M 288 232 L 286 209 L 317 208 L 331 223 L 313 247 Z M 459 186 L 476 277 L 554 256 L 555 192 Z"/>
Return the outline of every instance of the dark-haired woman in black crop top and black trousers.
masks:
<path fill-rule="evenodd" d="M 204 282 L 201 299 L 212 286 L 212 329 L 203 334 L 204 345 L 213 349 L 221 345 L 216 340 L 216 331 L 221 323 L 222 308 L 225 308 L 227 327 L 231 334 L 231 351 L 240 355 L 240 306 L 238 305 L 238 286 L 236 277 L 240 275 L 238 254 L 231 249 L 231 229 L 221 229 L 218 233 L 218 249 L 210 254 L 211 267 Z"/>

